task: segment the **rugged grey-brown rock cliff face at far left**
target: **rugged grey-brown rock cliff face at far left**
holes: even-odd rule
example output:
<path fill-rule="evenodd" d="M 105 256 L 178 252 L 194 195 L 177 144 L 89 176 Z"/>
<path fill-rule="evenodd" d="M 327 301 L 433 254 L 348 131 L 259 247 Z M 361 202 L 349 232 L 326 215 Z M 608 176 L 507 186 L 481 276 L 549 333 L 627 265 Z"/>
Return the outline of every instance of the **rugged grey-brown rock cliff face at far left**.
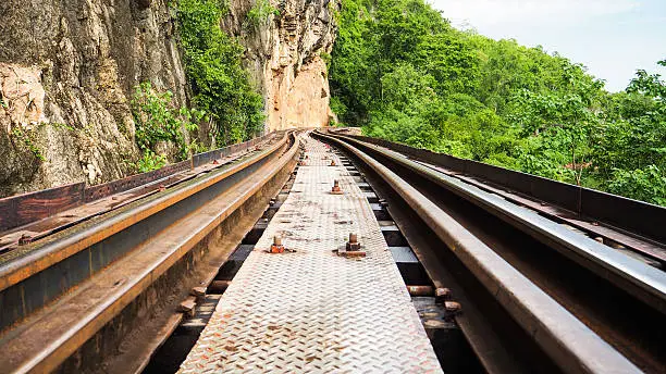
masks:
<path fill-rule="evenodd" d="M 0 196 L 124 176 L 133 87 L 185 100 L 173 33 L 164 0 L 0 1 Z"/>

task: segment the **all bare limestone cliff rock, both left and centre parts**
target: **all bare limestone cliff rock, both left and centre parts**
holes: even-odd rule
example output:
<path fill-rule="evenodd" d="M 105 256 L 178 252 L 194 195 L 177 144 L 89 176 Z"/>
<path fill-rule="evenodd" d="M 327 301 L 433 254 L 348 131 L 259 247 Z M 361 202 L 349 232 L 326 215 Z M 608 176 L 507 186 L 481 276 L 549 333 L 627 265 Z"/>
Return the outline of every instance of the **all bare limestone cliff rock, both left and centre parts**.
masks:
<path fill-rule="evenodd" d="M 268 129 L 325 125 L 340 0 L 270 0 L 280 14 L 249 23 L 256 1 L 231 0 L 222 26 L 247 48 Z M 146 80 L 187 102 L 166 0 L 0 0 L 0 197 L 125 176 Z"/>

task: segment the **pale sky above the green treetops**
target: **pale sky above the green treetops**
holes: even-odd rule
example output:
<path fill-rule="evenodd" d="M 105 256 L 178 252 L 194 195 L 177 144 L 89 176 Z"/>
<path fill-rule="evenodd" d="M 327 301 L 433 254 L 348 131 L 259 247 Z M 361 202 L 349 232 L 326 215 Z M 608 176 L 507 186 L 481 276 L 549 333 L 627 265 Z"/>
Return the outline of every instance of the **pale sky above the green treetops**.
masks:
<path fill-rule="evenodd" d="M 543 46 L 606 82 L 627 87 L 638 68 L 666 68 L 666 0 L 430 0 L 458 28 Z"/>

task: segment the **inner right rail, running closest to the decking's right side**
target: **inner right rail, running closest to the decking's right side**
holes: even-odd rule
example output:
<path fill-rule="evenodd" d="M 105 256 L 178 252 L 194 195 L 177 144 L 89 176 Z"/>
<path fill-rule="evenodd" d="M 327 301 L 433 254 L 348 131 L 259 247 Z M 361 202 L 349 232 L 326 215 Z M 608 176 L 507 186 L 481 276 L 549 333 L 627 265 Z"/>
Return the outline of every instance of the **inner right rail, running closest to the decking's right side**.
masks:
<path fill-rule="evenodd" d="M 565 372 L 641 372 L 409 183 L 344 139 L 318 136 L 353 152 L 386 180 Z"/>

